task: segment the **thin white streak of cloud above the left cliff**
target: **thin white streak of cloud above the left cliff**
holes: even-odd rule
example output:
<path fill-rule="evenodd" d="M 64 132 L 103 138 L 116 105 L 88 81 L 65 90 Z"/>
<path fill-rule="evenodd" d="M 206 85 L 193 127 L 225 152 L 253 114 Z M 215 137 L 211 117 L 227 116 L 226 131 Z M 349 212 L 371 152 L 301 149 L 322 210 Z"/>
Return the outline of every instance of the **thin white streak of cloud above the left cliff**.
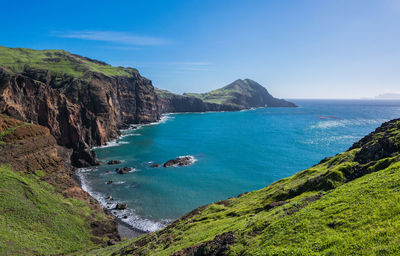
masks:
<path fill-rule="evenodd" d="M 137 46 L 165 45 L 171 43 L 170 40 L 164 38 L 139 36 L 136 34 L 117 31 L 69 31 L 65 33 L 55 33 L 54 35 L 62 38 L 104 41 Z"/>

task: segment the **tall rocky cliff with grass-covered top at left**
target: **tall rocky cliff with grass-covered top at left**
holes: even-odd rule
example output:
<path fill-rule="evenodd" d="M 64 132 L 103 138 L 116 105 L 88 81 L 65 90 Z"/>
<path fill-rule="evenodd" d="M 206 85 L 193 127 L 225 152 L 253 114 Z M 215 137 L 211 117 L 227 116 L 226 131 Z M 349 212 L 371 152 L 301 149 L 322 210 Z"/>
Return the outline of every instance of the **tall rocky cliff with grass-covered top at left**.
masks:
<path fill-rule="evenodd" d="M 151 81 L 62 50 L 0 47 L 0 113 L 50 129 L 73 150 L 77 167 L 95 164 L 90 148 L 127 124 L 160 118 Z"/>

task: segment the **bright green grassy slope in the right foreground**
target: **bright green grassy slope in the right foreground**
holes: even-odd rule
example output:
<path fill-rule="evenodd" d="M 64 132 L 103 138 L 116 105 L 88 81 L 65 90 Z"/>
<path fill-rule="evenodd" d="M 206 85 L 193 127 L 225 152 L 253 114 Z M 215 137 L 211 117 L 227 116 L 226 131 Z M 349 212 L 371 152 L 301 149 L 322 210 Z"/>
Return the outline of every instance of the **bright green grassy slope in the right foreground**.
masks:
<path fill-rule="evenodd" d="M 398 149 L 399 131 L 394 121 L 359 146 L 374 148 L 386 138 Z M 346 151 L 156 233 L 88 254 L 170 255 L 228 231 L 236 237 L 231 255 L 400 254 L 399 151 L 367 163 L 357 162 L 359 152 Z"/>

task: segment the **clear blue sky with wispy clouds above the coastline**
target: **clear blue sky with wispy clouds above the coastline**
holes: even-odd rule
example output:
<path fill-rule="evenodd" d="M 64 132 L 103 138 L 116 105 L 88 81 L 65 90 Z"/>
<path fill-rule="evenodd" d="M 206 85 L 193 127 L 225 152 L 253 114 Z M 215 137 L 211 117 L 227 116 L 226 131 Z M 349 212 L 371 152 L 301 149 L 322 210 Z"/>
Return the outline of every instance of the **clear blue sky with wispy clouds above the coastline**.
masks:
<path fill-rule="evenodd" d="M 400 92 L 400 1 L 2 1 L 0 45 L 65 49 L 205 92 L 252 78 L 283 98 Z"/>

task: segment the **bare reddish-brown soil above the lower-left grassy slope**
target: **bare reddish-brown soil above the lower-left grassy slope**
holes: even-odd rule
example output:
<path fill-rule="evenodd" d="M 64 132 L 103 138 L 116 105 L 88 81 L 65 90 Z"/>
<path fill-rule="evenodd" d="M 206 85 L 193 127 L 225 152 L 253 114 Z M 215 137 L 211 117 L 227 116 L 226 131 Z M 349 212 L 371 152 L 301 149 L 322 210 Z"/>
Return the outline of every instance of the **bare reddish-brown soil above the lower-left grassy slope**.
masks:
<path fill-rule="evenodd" d="M 18 172 L 40 170 L 41 180 L 53 185 L 64 197 L 85 201 L 94 212 L 103 212 L 99 203 L 72 178 L 73 172 L 58 155 L 56 140 L 48 128 L 0 115 L 0 134 L 0 164 L 10 165 Z M 87 221 L 98 237 L 96 242 L 103 243 L 102 237 L 119 240 L 113 217 L 99 221 L 92 215 Z"/>

